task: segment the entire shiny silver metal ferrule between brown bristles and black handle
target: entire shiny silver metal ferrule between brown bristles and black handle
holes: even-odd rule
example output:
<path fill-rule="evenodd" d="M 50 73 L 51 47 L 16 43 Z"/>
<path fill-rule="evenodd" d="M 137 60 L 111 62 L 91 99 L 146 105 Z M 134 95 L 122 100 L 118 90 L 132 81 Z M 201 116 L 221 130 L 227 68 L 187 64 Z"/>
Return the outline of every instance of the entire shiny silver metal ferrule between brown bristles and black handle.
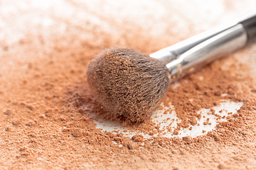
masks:
<path fill-rule="evenodd" d="M 185 47 L 180 43 L 181 46 L 174 45 L 176 50 L 171 50 L 171 46 L 150 56 L 164 62 L 171 74 L 171 81 L 176 81 L 247 44 L 247 33 L 240 23 L 217 32 L 215 31 L 213 36 L 199 36 L 198 40 L 193 37 L 194 42 L 186 42 Z"/>

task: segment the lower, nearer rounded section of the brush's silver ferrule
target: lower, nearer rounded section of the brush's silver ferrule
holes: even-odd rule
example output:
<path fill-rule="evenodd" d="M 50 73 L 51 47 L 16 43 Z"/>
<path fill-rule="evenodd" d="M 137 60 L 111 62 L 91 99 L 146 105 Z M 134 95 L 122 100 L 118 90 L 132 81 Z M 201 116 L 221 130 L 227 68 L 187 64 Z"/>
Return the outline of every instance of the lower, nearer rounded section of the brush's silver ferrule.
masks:
<path fill-rule="evenodd" d="M 218 35 L 201 42 L 181 54 L 176 60 L 166 64 L 171 81 L 191 74 L 206 64 L 213 62 L 230 52 L 245 47 L 248 43 L 247 31 L 241 23 Z"/>

